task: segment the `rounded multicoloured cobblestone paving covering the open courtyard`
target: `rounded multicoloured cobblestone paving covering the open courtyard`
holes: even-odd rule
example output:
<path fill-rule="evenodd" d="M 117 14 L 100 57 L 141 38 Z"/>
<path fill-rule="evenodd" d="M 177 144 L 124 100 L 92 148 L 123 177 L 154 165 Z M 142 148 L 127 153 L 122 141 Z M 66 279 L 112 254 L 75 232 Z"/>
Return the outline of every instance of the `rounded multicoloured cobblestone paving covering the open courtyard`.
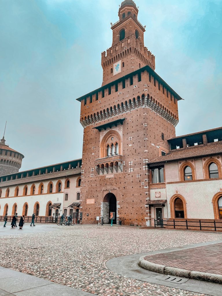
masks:
<path fill-rule="evenodd" d="M 56 230 L 0 236 L 1 266 L 99 296 L 204 295 L 130 279 L 110 271 L 105 263 L 118 256 L 222 239 L 222 234 L 130 226 L 48 227 Z"/>

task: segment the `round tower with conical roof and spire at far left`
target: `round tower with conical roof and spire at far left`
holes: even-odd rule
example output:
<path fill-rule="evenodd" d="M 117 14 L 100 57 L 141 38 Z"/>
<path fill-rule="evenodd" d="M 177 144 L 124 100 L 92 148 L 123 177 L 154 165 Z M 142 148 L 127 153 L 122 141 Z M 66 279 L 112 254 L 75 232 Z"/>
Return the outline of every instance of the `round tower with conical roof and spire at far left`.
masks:
<path fill-rule="evenodd" d="M 22 165 L 24 155 L 5 144 L 4 136 L 0 142 L 0 176 L 17 173 Z"/>

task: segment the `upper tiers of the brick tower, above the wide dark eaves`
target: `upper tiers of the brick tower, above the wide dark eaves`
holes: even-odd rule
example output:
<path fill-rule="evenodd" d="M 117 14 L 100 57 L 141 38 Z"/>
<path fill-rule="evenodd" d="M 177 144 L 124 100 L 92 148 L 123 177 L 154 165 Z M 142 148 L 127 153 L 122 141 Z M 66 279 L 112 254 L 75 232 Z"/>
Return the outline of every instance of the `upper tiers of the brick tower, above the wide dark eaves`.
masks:
<path fill-rule="evenodd" d="M 155 57 L 144 46 L 145 27 L 137 20 L 137 15 L 138 9 L 132 0 L 122 2 L 119 20 L 111 26 L 112 46 L 102 52 L 102 85 L 146 65 L 155 70 Z"/>

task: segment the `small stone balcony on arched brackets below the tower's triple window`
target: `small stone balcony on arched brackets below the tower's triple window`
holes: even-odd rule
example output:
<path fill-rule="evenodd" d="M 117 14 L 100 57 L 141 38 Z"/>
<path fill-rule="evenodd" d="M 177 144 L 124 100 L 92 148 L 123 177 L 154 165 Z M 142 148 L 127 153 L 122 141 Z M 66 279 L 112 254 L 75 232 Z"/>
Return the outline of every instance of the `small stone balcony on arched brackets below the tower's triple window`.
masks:
<path fill-rule="evenodd" d="M 108 175 L 123 172 L 123 155 L 112 155 L 96 159 L 98 175 Z"/>

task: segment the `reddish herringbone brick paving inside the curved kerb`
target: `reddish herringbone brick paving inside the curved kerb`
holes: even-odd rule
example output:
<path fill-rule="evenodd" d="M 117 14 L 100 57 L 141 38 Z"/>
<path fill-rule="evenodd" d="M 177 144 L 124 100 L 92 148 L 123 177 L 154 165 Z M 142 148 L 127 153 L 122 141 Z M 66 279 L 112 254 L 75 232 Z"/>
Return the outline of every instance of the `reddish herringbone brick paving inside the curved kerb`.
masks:
<path fill-rule="evenodd" d="M 222 274 L 222 243 L 145 257 L 152 263 Z"/>

